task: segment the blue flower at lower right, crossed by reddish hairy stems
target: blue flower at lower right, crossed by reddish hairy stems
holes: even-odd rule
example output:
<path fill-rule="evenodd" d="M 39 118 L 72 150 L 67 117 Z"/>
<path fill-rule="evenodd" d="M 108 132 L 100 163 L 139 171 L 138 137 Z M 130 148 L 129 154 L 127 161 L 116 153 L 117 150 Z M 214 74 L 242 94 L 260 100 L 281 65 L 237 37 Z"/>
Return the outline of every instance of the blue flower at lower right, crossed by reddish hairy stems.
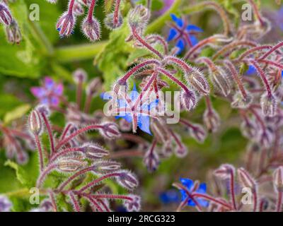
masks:
<path fill-rule="evenodd" d="M 207 193 L 207 184 L 205 184 L 205 183 L 200 184 L 200 186 L 197 188 L 196 191 L 192 191 L 195 183 L 191 179 L 180 178 L 180 182 L 183 184 L 183 186 L 185 186 L 187 188 L 188 191 L 198 193 L 198 194 L 206 194 Z M 182 195 L 181 200 L 184 201 L 187 198 L 187 194 L 186 194 L 185 190 L 183 190 L 183 189 L 180 189 L 180 192 L 181 192 L 181 195 Z M 197 201 L 197 203 L 199 203 L 200 206 L 204 206 L 204 207 L 208 206 L 208 201 L 204 200 L 203 198 L 195 198 L 195 201 Z M 187 206 L 196 206 L 196 205 L 195 205 L 195 202 L 192 201 L 192 199 L 189 198 L 189 200 L 187 201 Z"/>

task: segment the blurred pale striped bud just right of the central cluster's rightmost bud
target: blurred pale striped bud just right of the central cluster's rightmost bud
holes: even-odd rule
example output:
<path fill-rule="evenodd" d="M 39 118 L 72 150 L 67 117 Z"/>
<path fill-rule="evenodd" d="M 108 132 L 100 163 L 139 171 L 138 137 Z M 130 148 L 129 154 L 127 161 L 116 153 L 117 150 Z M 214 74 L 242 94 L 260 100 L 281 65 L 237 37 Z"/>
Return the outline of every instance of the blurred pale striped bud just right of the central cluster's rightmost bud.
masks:
<path fill-rule="evenodd" d="M 216 70 L 210 73 L 210 78 L 212 80 L 212 83 L 214 84 L 214 87 L 219 90 L 224 95 L 224 97 L 228 96 L 229 93 L 231 93 L 229 78 L 227 78 L 226 74 L 221 68 L 216 67 Z"/>

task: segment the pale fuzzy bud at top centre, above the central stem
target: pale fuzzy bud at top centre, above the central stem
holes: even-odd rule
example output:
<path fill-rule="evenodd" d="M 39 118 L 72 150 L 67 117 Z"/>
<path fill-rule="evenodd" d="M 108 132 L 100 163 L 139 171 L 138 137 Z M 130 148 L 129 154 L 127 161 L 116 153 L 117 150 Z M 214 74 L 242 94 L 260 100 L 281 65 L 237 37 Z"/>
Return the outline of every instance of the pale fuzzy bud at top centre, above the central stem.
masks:
<path fill-rule="evenodd" d="M 129 25 L 132 28 L 140 28 L 141 30 L 146 27 L 149 22 L 150 11 L 148 8 L 139 5 L 129 12 Z"/>

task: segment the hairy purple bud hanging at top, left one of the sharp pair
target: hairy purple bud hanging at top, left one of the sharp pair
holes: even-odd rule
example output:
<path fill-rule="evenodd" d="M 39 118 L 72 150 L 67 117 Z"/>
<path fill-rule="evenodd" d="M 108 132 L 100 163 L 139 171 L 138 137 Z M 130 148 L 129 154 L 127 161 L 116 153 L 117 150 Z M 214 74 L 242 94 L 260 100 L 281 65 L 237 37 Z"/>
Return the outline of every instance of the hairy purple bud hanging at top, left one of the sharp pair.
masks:
<path fill-rule="evenodd" d="M 56 25 L 59 35 L 61 37 L 71 35 L 73 33 L 75 23 L 76 17 L 74 17 L 73 13 L 69 13 L 69 11 L 63 13 Z"/>

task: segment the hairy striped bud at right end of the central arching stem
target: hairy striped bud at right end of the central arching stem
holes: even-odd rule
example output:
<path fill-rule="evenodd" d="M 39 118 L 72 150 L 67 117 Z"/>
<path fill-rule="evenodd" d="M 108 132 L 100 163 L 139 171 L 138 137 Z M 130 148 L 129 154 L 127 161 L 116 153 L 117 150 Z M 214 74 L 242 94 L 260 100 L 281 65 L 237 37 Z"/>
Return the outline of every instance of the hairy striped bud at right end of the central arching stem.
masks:
<path fill-rule="evenodd" d="M 194 69 L 191 71 L 190 75 L 187 74 L 186 78 L 187 82 L 192 85 L 192 87 L 195 88 L 198 93 L 202 95 L 209 94 L 209 84 L 207 83 L 207 80 L 204 78 L 204 75 L 200 71 Z"/>

